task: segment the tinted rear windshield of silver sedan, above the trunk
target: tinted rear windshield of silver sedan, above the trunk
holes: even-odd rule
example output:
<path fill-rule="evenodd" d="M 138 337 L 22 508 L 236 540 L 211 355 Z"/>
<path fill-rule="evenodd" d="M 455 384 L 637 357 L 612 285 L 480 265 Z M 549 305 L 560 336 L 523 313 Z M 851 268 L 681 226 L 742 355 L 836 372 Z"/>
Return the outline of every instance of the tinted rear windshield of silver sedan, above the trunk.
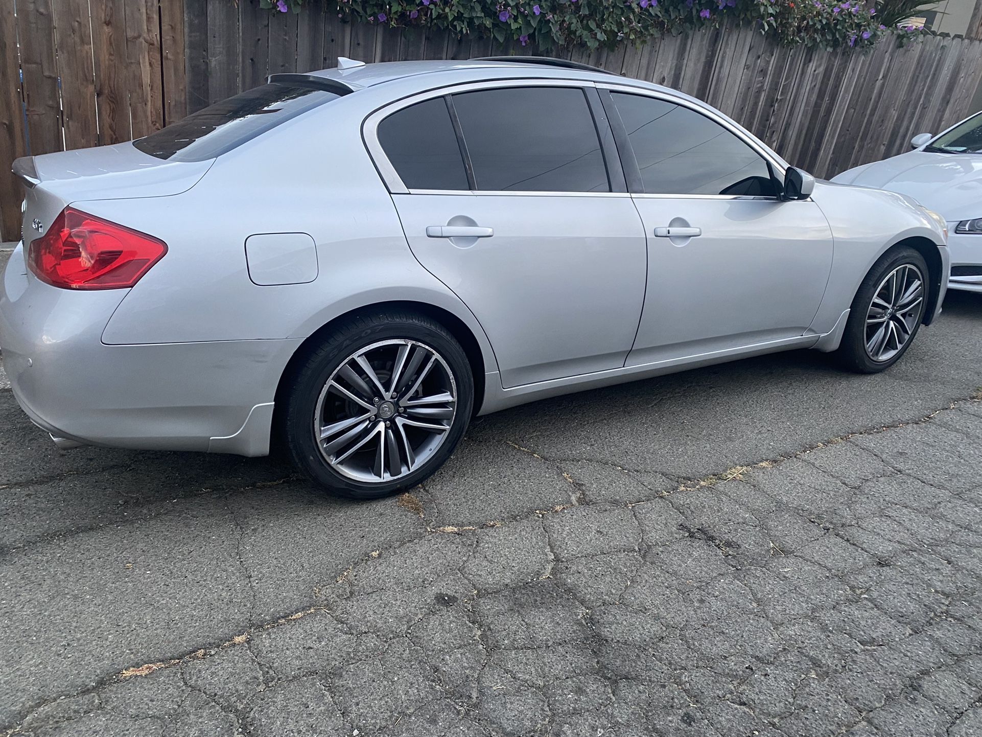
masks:
<path fill-rule="evenodd" d="M 157 158 L 204 161 L 339 96 L 314 87 L 262 85 L 192 113 L 134 145 Z"/>

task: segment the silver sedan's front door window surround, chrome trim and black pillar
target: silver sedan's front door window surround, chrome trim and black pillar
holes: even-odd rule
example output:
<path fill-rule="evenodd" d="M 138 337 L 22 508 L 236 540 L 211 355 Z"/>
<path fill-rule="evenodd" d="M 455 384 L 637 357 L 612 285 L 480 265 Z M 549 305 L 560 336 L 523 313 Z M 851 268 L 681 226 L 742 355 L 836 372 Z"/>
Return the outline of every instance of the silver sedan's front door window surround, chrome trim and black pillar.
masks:
<path fill-rule="evenodd" d="M 781 200 L 780 197 L 767 197 L 762 195 L 694 195 L 690 193 L 673 194 L 645 192 L 644 182 L 641 179 L 641 171 L 637 166 L 637 157 L 634 155 L 634 148 L 631 146 L 630 141 L 627 138 L 627 129 L 625 128 L 624 122 L 621 120 L 620 111 L 617 108 L 617 103 L 614 101 L 611 92 L 621 92 L 623 94 L 636 94 L 642 97 L 651 97 L 656 100 L 661 100 L 662 102 L 668 102 L 673 105 L 688 108 L 692 112 L 708 118 L 713 123 L 721 126 L 724 130 L 728 131 L 736 136 L 737 139 L 744 142 L 754 153 L 763 159 L 765 164 L 769 164 L 772 175 L 779 175 L 783 180 L 787 174 L 787 170 L 784 164 L 771 155 L 769 151 L 765 150 L 759 142 L 754 140 L 744 131 L 735 128 L 729 121 L 722 118 L 720 115 L 717 115 L 713 110 L 704 108 L 701 105 L 690 102 L 682 97 L 660 90 L 654 91 L 631 85 L 608 85 L 599 83 L 596 85 L 596 87 L 600 92 L 600 98 L 604 103 L 604 106 L 606 107 L 608 104 L 611 106 L 608 110 L 608 117 L 611 121 L 611 128 L 614 131 L 614 138 L 617 142 L 618 149 L 621 151 L 622 165 L 624 166 L 624 173 L 628 183 L 627 189 L 631 192 L 632 197 L 645 199 L 746 199 L 768 202 Z"/>

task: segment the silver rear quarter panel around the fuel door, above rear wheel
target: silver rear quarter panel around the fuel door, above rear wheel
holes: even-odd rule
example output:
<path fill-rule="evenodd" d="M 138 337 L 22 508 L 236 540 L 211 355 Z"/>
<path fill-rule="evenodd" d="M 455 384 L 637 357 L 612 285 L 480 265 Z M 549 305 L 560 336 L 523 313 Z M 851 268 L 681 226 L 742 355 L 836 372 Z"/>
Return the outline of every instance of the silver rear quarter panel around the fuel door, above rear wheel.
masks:
<path fill-rule="evenodd" d="M 305 338 L 345 312 L 414 301 L 457 315 L 477 338 L 485 369 L 496 370 L 477 319 L 409 251 L 361 142 L 363 105 L 346 106 L 347 99 L 222 156 L 187 193 L 78 203 L 169 249 L 113 314 L 102 342 Z M 309 234 L 317 278 L 254 284 L 246 239 L 263 233 Z"/>

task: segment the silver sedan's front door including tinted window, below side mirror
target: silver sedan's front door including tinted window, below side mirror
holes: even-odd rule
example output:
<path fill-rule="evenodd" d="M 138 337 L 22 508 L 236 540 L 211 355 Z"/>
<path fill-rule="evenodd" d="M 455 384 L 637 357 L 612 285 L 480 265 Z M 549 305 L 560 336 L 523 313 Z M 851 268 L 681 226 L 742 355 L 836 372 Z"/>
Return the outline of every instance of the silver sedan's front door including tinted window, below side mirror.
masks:
<path fill-rule="evenodd" d="M 601 95 L 615 130 L 623 125 L 619 146 L 648 242 L 627 365 L 801 336 L 832 269 L 818 205 L 777 198 L 777 162 L 723 119 L 674 97 L 617 87 Z"/>

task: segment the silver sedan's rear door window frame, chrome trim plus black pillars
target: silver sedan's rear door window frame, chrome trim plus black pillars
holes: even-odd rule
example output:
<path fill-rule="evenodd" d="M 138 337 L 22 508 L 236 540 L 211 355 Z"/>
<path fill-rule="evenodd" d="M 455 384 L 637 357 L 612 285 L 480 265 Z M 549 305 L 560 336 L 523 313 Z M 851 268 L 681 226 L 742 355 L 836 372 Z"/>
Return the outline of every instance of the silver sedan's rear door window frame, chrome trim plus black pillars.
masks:
<path fill-rule="evenodd" d="M 607 172 L 607 180 L 612 190 L 614 190 L 619 183 L 622 182 L 616 175 L 621 169 L 623 164 L 621 159 L 616 156 L 618 153 L 614 149 L 612 134 L 608 134 L 606 137 L 604 135 L 604 126 L 610 131 L 610 122 L 607 116 L 604 116 L 603 120 L 597 119 L 597 113 L 591 104 L 590 99 L 590 88 L 595 88 L 596 85 L 592 82 L 584 80 L 543 80 L 543 79 L 513 79 L 513 80 L 482 80 L 480 82 L 469 82 L 463 83 L 461 85 L 449 85 L 440 87 L 438 89 L 428 89 L 423 92 L 418 92 L 408 97 L 404 97 L 401 100 L 395 100 L 390 102 L 374 112 L 368 115 L 361 124 L 361 140 L 365 144 L 365 148 L 368 150 L 368 155 L 375 164 L 375 169 L 378 171 L 379 176 L 382 178 L 382 182 L 385 184 L 389 193 L 392 195 L 464 195 L 464 196 L 477 196 L 477 197 L 630 197 L 627 192 L 627 187 L 623 187 L 623 192 L 524 192 L 524 191 L 494 191 L 494 190 L 410 190 L 403 182 L 396 168 L 389 161 L 389 157 L 386 155 L 385 150 L 382 148 L 382 144 L 378 141 L 378 125 L 385 118 L 393 115 L 404 108 L 416 104 L 417 102 L 425 102 L 426 100 L 433 99 L 435 97 L 450 98 L 452 95 L 459 94 L 462 92 L 472 92 L 480 91 L 484 89 L 500 89 L 504 87 L 531 87 L 531 86 L 544 86 L 544 87 L 574 87 L 579 89 L 583 93 L 584 102 L 586 103 L 587 109 L 590 112 L 590 116 L 593 119 L 593 124 L 596 128 L 597 138 L 600 142 L 601 154 L 604 159 L 604 169 Z M 462 143 L 462 152 L 465 151 L 466 146 L 463 138 L 463 134 L 460 131 L 460 121 L 457 120 L 456 110 L 452 107 L 453 101 L 450 102 L 451 110 L 451 120 L 454 123 L 454 130 L 457 132 L 459 139 L 458 142 Z M 605 144 L 605 139 L 607 143 Z M 616 164 L 612 163 L 610 158 L 611 153 L 616 157 Z M 464 168 L 467 168 L 469 159 L 469 154 L 464 154 Z M 472 179 L 473 172 L 468 170 L 468 180 L 470 185 L 474 185 Z"/>

